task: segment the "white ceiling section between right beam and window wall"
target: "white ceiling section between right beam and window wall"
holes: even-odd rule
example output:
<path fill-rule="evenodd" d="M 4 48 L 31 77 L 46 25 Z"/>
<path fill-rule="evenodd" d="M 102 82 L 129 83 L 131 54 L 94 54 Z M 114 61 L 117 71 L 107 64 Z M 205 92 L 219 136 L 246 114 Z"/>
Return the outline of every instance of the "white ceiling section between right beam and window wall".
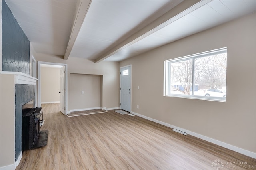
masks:
<path fill-rule="evenodd" d="M 214 0 L 105 59 L 119 61 L 212 28 L 256 10 L 256 1 Z"/>

